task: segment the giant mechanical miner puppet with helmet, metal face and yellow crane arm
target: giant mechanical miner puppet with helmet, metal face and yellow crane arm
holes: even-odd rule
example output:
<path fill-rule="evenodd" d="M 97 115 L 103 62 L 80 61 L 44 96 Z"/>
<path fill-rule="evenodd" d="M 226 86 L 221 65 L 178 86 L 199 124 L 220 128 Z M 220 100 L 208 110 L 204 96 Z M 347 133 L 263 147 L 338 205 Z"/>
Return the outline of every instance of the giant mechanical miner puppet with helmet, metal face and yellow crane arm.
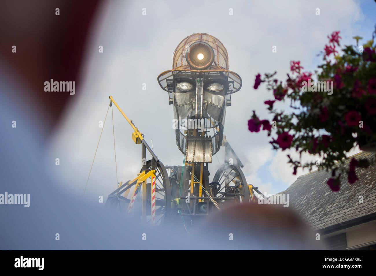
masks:
<path fill-rule="evenodd" d="M 254 192 L 259 191 L 247 183 L 243 164 L 223 135 L 226 108 L 242 86 L 240 76 L 229 71 L 224 45 L 206 33 L 187 36 L 174 51 L 172 69 L 162 72 L 158 83 L 173 108 L 183 164 L 164 166 L 110 96 L 110 105 L 114 103 L 132 126 L 133 141 L 142 144 L 143 160 L 146 151 L 152 158 L 144 161 L 135 179 L 118 184 L 107 204 L 153 225 L 183 223 L 188 231 L 197 220 L 225 205 L 255 200 Z M 208 163 L 221 146 L 223 164 L 209 181 Z"/>

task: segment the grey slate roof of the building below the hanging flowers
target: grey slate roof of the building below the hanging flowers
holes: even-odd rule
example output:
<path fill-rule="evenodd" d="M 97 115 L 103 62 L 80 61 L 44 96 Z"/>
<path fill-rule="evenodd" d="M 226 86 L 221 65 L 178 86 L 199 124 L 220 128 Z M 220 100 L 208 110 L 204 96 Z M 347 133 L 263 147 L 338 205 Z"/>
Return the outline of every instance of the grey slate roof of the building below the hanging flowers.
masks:
<path fill-rule="evenodd" d="M 346 166 L 352 157 L 373 156 L 374 153 L 359 152 L 345 161 Z M 312 228 L 329 233 L 363 219 L 376 219 L 376 164 L 357 168 L 356 175 L 359 180 L 354 184 L 347 182 L 347 175 L 341 176 L 341 189 L 333 192 L 326 184 L 331 171 L 316 170 L 299 176 L 282 193 L 289 194 L 290 206 Z M 363 203 L 359 203 L 359 196 L 363 196 Z"/>

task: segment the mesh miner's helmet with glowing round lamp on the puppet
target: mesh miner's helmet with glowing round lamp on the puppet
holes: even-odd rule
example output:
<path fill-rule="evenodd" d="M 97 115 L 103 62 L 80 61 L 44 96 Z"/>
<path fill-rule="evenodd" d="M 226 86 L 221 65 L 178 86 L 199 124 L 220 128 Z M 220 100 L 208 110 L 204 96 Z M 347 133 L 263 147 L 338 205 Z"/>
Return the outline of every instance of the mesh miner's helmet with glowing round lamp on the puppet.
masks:
<path fill-rule="evenodd" d="M 207 33 L 194 33 L 177 45 L 172 69 L 159 74 L 158 83 L 163 90 L 171 93 L 174 89 L 174 75 L 197 72 L 226 78 L 227 94 L 237 92 L 242 85 L 240 76 L 229 71 L 229 56 L 222 42 Z"/>

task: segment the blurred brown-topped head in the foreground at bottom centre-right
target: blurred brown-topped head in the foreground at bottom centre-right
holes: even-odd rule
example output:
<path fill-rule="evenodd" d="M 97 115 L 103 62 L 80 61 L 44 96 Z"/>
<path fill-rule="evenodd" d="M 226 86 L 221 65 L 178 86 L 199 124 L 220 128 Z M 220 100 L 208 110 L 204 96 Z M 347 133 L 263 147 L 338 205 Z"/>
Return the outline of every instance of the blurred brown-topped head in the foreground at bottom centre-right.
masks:
<path fill-rule="evenodd" d="M 291 208 L 255 202 L 218 211 L 193 233 L 205 235 L 200 248 L 246 250 L 323 250 L 315 233 Z"/>

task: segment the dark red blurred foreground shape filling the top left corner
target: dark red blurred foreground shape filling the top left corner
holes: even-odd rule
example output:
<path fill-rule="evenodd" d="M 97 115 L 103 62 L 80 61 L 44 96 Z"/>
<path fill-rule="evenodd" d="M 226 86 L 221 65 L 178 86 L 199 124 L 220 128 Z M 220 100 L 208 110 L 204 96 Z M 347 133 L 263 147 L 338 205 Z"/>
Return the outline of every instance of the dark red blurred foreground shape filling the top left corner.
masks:
<path fill-rule="evenodd" d="M 20 109 L 42 114 L 43 121 L 34 122 L 46 138 L 68 104 L 80 95 L 85 47 L 103 2 L 0 1 L 0 69 L 6 70 L 7 81 L 13 84 L 0 88 Z M 75 81 L 76 94 L 46 92 L 44 83 L 50 80 Z M 26 89 L 19 89 L 18 84 Z"/>

